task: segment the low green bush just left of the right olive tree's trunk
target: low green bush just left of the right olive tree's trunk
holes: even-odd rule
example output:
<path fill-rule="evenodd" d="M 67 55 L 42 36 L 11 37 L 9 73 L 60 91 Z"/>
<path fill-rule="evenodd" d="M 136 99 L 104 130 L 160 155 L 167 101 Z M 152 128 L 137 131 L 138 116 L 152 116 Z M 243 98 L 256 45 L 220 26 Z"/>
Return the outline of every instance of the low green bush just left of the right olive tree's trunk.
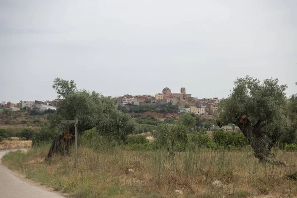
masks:
<path fill-rule="evenodd" d="M 225 132 L 222 130 L 213 132 L 213 141 L 220 146 L 244 147 L 247 146 L 247 139 L 242 133 Z"/>

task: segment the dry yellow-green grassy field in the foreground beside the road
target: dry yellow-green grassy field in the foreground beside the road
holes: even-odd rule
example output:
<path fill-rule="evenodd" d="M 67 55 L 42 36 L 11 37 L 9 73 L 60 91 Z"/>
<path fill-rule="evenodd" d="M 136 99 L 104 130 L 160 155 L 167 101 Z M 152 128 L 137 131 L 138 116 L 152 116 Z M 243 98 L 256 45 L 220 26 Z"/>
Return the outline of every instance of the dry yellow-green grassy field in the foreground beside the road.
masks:
<path fill-rule="evenodd" d="M 126 147 L 93 150 L 79 147 L 71 156 L 44 158 L 49 145 L 26 153 L 6 154 L 2 163 L 42 185 L 79 198 L 288 198 L 297 196 L 297 182 L 285 174 L 297 171 L 297 153 L 277 151 L 292 166 L 261 164 L 249 148 L 177 152 L 129 150 Z M 131 169 L 131 170 L 130 170 Z M 212 183 L 219 180 L 222 189 Z M 182 191 L 182 195 L 175 190 Z"/>

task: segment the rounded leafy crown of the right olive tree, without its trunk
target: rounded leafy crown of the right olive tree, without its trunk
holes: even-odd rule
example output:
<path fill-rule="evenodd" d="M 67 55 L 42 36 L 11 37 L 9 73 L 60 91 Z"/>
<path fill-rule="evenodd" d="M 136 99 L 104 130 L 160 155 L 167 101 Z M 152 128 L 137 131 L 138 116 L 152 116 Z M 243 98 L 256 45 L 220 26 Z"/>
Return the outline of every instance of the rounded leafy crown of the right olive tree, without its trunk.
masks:
<path fill-rule="evenodd" d="M 218 105 L 218 118 L 223 123 L 237 124 L 242 115 L 246 115 L 252 124 L 258 121 L 271 123 L 280 117 L 287 86 L 278 85 L 278 79 L 260 82 L 247 76 L 238 78 L 234 85 L 231 95 Z"/>

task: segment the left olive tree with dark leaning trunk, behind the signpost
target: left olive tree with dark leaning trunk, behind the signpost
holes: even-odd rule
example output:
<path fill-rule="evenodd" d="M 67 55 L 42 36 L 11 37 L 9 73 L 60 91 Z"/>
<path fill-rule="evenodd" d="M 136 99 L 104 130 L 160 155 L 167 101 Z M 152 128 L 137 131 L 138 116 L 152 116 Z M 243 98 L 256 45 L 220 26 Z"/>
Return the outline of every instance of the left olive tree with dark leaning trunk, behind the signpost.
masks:
<path fill-rule="evenodd" d="M 67 154 L 74 138 L 74 126 L 61 124 L 61 120 L 78 118 L 78 132 L 97 128 L 97 132 L 110 138 L 125 141 L 128 134 L 134 133 L 136 124 L 128 115 L 117 110 L 111 99 L 106 99 L 96 92 L 77 90 L 73 80 L 54 79 L 53 89 L 56 90 L 59 101 L 55 113 L 48 116 L 49 129 L 62 130 L 52 143 L 47 159 L 52 153 Z M 53 130 L 54 131 L 54 130 Z"/>

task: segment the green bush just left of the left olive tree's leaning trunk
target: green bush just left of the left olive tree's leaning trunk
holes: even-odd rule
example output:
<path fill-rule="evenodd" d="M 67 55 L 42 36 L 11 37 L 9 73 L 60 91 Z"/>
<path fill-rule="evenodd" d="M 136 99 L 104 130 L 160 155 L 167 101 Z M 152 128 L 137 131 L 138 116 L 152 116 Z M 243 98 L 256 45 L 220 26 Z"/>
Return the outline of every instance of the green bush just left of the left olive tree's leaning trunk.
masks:
<path fill-rule="evenodd" d="M 49 129 L 47 127 L 43 127 L 38 131 L 35 131 L 32 135 L 32 147 L 39 146 L 40 144 L 52 142 L 59 133 L 54 129 Z M 26 138 L 27 139 L 27 138 Z"/>

